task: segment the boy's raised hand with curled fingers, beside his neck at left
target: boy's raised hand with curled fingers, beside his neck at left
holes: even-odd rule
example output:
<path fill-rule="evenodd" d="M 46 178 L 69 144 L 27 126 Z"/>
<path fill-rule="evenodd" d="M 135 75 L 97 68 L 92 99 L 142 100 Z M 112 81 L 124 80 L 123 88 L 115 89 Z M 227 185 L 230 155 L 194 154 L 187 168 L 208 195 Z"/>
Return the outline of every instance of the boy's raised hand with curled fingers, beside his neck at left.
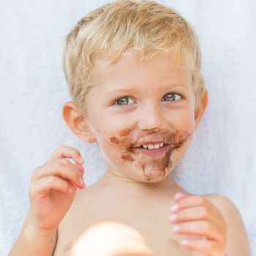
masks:
<path fill-rule="evenodd" d="M 39 230 L 56 230 L 76 189 L 85 188 L 80 157 L 75 148 L 60 146 L 43 165 L 35 168 L 29 188 L 30 219 Z M 72 158 L 75 164 L 66 158 Z"/>

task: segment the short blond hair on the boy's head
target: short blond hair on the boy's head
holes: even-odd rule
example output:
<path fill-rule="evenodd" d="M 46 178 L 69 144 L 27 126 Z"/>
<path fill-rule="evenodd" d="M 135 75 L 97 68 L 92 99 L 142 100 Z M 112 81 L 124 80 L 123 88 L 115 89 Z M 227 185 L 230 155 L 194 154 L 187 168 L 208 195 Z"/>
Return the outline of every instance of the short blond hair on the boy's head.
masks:
<path fill-rule="evenodd" d="M 157 53 L 174 53 L 192 71 L 195 101 L 204 89 L 201 53 L 194 29 L 173 8 L 148 0 L 119 0 L 89 12 L 67 34 L 64 73 L 72 101 L 81 110 L 86 95 L 97 83 L 93 68 L 97 59 L 118 61 L 127 50 L 140 60 Z"/>

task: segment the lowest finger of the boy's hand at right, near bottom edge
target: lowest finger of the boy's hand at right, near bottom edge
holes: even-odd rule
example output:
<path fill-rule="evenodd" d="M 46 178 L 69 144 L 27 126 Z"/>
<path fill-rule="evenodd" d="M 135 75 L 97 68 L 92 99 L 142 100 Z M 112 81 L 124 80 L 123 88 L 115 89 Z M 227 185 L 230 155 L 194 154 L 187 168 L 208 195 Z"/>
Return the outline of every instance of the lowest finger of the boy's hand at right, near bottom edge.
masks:
<path fill-rule="evenodd" d="M 181 246 L 192 252 L 204 252 L 207 255 L 225 255 L 225 246 L 217 241 L 211 240 L 181 240 Z"/>

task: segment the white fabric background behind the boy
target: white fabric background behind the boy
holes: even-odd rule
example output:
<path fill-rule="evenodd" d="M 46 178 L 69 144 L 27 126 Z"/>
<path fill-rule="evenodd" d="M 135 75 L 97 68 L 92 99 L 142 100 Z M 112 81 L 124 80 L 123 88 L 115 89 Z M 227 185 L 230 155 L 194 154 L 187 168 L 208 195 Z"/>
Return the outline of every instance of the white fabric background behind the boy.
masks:
<path fill-rule="evenodd" d="M 20 232 L 34 167 L 58 146 L 83 154 L 87 186 L 104 173 L 97 147 L 76 138 L 62 119 L 70 98 L 61 56 L 64 36 L 105 2 L 0 1 L 0 255 Z M 195 26 L 209 92 L 208 109 L 175 177 L 189 192 L 230 197 L 256 251 L 256 2 L 160 2 Z"/>

